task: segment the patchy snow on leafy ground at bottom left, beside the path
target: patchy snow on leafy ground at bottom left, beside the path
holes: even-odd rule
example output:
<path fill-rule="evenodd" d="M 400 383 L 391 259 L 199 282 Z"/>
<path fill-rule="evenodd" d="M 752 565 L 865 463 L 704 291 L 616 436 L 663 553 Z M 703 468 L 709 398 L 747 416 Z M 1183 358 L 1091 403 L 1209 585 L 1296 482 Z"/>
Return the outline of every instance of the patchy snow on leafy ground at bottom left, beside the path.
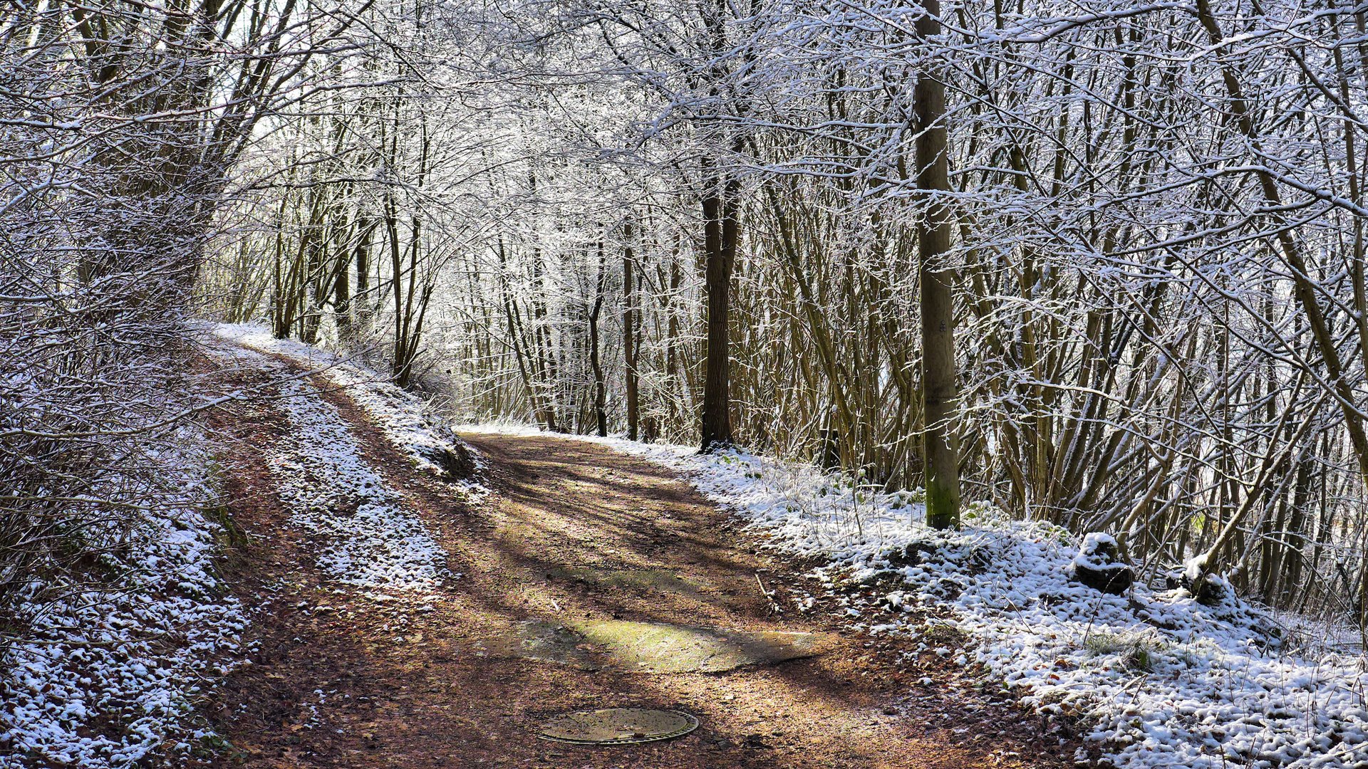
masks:
<path fill-rule="evenodd" d="M 246 621 L 213 573 L 202 436 L 187 428 L 181 445 L 159 457 L 179 493 L 131 531 L 93 534 L 109 546 L 100 571 L 118 579 L 36 576 L 18 597 L 23 638 L 0 653 L 0 768 L 174 762 L 212 739 L 194 703 Z"/>

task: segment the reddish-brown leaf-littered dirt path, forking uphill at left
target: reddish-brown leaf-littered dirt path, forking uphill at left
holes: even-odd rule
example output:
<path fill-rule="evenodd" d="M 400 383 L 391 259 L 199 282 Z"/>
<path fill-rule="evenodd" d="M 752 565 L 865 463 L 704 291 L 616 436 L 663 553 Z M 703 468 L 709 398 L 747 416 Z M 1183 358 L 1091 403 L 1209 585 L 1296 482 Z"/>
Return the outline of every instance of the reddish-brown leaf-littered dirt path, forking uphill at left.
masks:
<path fill-rule="evenodd" d="M 265 404 L 224 415 L 231 513 L 245 530 L 227 566 L 253 616 L 252 665 L 215 701 L 215 729 L 244 766 L 1062 766 L 1073 743 L 885 639 L 725 673 L 586 670 L 502 655 L 520 623 L 635 620 L 736 629 L 837 629 L 792 566 L 758 554 L 729 517 L 665 469 L 557 438 L 469 435 L 494 494 L 468 504 L 410 469 L 342 393 L 365 458 L 405 490 L 460 579 L 432 595 L 365 598 L 312 565 L 260 447 Z M 622 579 L 620 575 L 648 576 Z M 654 576 L 651 576 L 654 575 Z M 644 582 L 643 582 L 644 579 Z M 767 597 L 761 586 L 773 594 Z M 492 643 L 491 643 L 492 642 Z M 923 676 L 934 676 L 925 686 Z M 637 746 L 538 740 L 565 710 L 679 707 L 700 728 Z"/>

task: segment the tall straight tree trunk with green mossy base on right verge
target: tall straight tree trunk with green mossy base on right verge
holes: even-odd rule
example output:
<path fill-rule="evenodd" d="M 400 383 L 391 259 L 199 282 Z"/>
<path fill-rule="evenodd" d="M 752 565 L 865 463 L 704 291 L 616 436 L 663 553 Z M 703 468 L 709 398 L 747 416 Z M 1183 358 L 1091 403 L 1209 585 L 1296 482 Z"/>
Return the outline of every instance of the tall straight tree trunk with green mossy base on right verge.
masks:
<path fill-rule="evenodd" d="M 923 40 L 940 34 L 940 1 L 926 0 L 926 15 L 917 21 Z M 922 402 L 925 428 L 922 452 L 926 458 L 926 523 L 934 528 L 959 525 L 959 435 L 952 423 L 959 387 L 955 374 L 955 305 L 951 297 L 951 270 L 943 264 L 949 252 L 949 192 L 945 116 L 945 86 L 932 73 L 917 78 L 912 92 L 917 114 L 917 186 L 926 190 L 925 218 L 917 226 L 921 265 L 922 316 Z"/>

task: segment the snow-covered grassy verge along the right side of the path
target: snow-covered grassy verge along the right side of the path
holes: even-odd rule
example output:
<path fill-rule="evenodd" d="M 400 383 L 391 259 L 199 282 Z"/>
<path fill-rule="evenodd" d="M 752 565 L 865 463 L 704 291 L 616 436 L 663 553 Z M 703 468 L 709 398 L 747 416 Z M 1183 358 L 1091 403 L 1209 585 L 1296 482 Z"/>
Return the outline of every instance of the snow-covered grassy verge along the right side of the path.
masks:
<path fill-rule="evenodd" d="M 510 424 L 461 430 L 538 434 Z M 937 532 L 922 525 L 918 495 L 860 488 L 811 465 L 573 438 L 681 472 L 778 550 L 828 558 L 818 575 L 833 587 L 896 576 L 880 603 L 944 606 L 951 624 L 981 642 L 970 654 L 934 640 L 929 650 L 986 665 L 1041 712 L 1085 716 L 1094 725 L 1088 738 L 1116 766 L 1368 769 L 1364 657 L 1294 651 L 1244 602 L 1205 606 L 1182 588 L 1142 584 L 1127 595 L 1094 591 L 1070 579 L 1079 539 L 982 504 L 966 506 L 959 531 Z M 848 612 L 862 614 L 856 605 Z"/>

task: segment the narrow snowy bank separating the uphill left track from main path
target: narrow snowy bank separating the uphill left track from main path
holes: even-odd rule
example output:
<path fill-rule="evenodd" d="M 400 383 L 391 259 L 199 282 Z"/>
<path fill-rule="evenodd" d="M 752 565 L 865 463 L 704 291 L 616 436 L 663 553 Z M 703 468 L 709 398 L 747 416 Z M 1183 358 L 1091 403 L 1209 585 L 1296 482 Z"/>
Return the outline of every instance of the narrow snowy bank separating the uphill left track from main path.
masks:
<path fill-rule="evenodd" d="M 477 478 L 483 458 L 461 443 L 439 417 L 430 413 L 417 395 L 393 384 L 386 376 L 312 345 L 276 339 L 264 326 L 223 323 L 213 326 L 212 331 L 220 339 L 260 353 L 285 356 L 300 365 L 317 369 L 319 376 L 328 383 L 345 387 L 386 439 L 408 456 L 419 469 L 447 476 L 472 495 L 484 493 L 484 487 L 476 479 L 454 478 L 446 467 L 449 457 L 468 452 Z"/>

